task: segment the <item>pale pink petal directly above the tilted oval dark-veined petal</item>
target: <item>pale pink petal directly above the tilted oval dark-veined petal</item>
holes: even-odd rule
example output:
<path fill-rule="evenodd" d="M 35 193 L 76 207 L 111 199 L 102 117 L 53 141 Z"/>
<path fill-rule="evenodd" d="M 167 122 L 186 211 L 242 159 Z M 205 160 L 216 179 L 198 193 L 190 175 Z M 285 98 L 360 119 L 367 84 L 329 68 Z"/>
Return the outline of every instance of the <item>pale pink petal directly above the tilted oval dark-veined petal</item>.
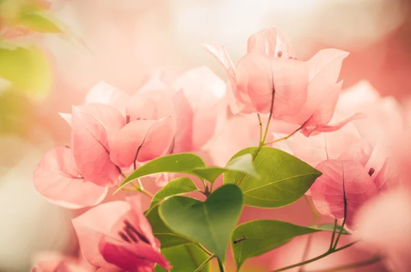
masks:
<path fill-rule="evenodd" d="M 166 88 L 171 89 L 169 86 Z M 166 90 L 168 90 L 166 89 Z M 129 99 L 126 112 L 131 121 L 160 120 L 175 113 L 173 101 L 164 89 L 139 90 Z"/>

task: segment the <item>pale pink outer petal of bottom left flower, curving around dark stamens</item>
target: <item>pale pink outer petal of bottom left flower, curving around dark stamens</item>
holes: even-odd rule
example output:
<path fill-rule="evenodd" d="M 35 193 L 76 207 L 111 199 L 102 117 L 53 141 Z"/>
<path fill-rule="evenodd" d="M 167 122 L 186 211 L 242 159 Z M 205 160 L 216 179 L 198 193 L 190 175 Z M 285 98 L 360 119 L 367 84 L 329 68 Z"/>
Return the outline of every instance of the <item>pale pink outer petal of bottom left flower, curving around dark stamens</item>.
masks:
<path fill-rule="evenodd" d="M 121 270 L 104 260 L 99 251 L 99 243 L 129 210 L 130 206 L 126 201 L 112 201 L 100 204 L 72 220 L 80 250 L 88 262 L 96 267 L 102 267 L 107 272 Z"/>

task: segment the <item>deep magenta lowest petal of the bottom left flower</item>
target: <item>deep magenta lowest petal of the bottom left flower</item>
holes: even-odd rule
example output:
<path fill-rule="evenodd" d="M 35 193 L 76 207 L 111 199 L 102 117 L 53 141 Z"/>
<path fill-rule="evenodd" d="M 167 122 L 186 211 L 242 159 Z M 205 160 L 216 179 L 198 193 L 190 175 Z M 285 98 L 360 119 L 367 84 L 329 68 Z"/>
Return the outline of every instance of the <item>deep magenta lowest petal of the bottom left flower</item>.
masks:
<path fill-rule="evenodd" d="M 145 271 L 141 270 L 143 268 L 151 268 L 147 271 L 153 271 L 155 263 L 160 264 L 164 269 L 172 268 L 160 251 L 155 251 L 147 243 L 126 243 L 104 236 L 99 247 L 106 261 L 116 264 L 125 271 Z"/>

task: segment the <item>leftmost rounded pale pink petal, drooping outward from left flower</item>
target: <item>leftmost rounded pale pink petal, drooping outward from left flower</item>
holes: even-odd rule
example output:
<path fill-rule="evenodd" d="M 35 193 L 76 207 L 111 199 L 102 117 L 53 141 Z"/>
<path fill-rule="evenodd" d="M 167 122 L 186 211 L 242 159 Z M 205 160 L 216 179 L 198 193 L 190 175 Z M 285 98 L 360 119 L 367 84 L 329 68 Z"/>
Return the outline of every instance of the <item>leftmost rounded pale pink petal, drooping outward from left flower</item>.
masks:
<path fill-rule="evenodd" d="M 71 209 L 97 205 L 108 190 L 84 181 L 68 147 L 56 147 L 47 152 L 34 169 L 33 182 L 43 197 Z"/>

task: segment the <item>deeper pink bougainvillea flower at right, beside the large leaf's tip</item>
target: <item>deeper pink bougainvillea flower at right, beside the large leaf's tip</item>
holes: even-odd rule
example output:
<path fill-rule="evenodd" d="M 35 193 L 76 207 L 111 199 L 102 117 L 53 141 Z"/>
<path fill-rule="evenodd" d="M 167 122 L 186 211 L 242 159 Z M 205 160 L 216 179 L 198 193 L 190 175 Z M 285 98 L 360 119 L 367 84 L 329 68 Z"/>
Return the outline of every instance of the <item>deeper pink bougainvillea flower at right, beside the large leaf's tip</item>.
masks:
<path fill-rule="evenodd" d="M 362 204 L 379 193 L 397 186 L 398 172 L 392 160 L 384 165 L 372 165 L 371 148 L 361 144 L 347 149 L 338 159 L 325 160 L 316 166 L 323 175 L 310 188 L 312 200 L 321 214 L 342 219 L 347 201 L 347 226 L 354 229 L 355 214 Z"/>

